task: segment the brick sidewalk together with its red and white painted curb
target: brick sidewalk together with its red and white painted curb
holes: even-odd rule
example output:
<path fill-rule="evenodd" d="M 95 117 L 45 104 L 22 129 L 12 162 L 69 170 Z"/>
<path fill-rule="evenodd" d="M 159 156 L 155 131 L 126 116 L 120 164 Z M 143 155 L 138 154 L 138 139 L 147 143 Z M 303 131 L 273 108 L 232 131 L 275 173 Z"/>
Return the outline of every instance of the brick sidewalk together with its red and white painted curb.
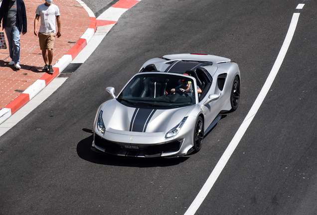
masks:
<path fill-rule="evenodd" d="M 92 10 L 82 0 L 54 0 L 54 4 L 59 7 L 61 13 L 62 35 L 60 38 L 55 38 L 52 63 L 54 73 L 50 75 L 42 72 L 44 61 L 38 38 L 33 33 L 36 7 L 44 0 L 24 0 L 28 32 L 21 35 L 20 39 L 20 66 L 22 68 L 16 70 L 13 66 L 9 66 L 8 63 L 11 59 L 8 50 L 0 49 L 0 124 L 41 92 L 73 62 L 79 53 L 80 57 L 76 58 L 75 63 L 83 63 L 101 43 L 120 16 L 141 0 L 115 1 L 114 5 L 96 18 Z M 96 31 L 97 26 L 98 31 Z M 90 40 L 93 41 L 90 42 L 91 47 L 88 47 L 86 45 Z M 11 124 L 0 126 L 0 130 L 2 128 L 10 129 Z"/>

